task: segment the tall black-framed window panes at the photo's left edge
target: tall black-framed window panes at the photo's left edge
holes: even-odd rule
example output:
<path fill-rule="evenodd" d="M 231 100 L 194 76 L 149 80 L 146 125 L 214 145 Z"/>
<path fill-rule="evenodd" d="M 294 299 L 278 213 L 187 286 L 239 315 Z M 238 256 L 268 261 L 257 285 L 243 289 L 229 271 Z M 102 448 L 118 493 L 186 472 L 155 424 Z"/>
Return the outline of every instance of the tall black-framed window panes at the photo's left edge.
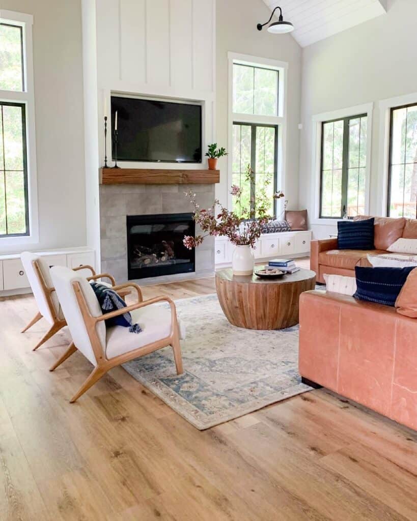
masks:
<path fill-rule="evenodd" d="M 0 237 L 13 237 L 29 235 L 26 104 L 7 95 L 25 90 L 22 26 L 0 23 L 0 42 Z"/>

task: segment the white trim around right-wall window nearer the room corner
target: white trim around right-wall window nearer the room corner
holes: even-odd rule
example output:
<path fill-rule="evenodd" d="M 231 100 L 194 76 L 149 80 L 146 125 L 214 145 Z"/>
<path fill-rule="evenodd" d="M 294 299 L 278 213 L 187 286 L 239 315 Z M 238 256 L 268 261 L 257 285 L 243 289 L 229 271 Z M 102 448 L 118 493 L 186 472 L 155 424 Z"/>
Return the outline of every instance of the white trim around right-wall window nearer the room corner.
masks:
<path fill-rule="evenodd" d="M 321 180 L 321 159 L 322 159 L 322 125 L 326 121 L 342 119 L 358 114 L 367 114 L 367 140 L 366 140 L 366 169 L 365 169 L 365 215 L 369 215 L 370 200 L 370 181 L 371 181 L 371 159 L 372 159 L 372 113 L 374 104 L 365 103 L 355 107 L 332 110 L 313 116 L 313 137 L 312 137 L 312 205 L 313 218 L 312 225 L 334 226 L 340 219 L 328 219 L 320 217 L 320 180 Z"/>

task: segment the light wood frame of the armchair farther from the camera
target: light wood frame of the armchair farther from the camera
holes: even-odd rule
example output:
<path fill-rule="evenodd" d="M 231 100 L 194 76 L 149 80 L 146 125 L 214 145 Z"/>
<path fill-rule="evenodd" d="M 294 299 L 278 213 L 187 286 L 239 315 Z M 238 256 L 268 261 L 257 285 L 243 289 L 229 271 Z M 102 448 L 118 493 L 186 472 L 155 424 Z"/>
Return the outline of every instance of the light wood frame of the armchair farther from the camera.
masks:
<path fill-rule="evenodd" d="M 52 323 L 52 326 L 50 327 L 50 329 L 44 334 L 42 339 L 34 346 L 33 351 L 36 351 L 36 349 L 38 349 L 43 343 L 45 343 L 52 336 L 54 336 L 55 333 L 57 333 L 60 329 L 65 327 L 67 325 L 67 322 L 65 319 L 59 318 L 58 313 L 56 312 L 56 309 L 55 309 L 55 306 L 54 306 L 54 303 L 53 303 L 52 297 L 51 297 L 52 293 L 55 291 L 55 288 L 51 288 L 47 285 L 38 260 L 35 259 L 35 261 L 32 261 L 32 265 L 33 265 L 33 269 L 35 270 L 36 277 L 38 277 L 40 286 L 42 288 L 43 294 L 46 299 L 46 304 L 48 306 L 48 309 L 51 313 L 51 317 L 53 320 L 53 323 Z M 78 271 L 80 269 L 89 269 L 91 271 L 92 276 L 87 277 L 87 280 L 89 280 L 89 281 L 96 280 L 99 278 L 108 278 L 112 282 L 112 286 L 116 285 L 116 281 L 108 273 L 101 273 L 99 275 L 96 275 L 94 268 L 87 264 L 84 266 L 78 266 L 77 268 L 73 268 L 73 271 Z M 41 318 L 42 318 L 42 314 L 38 311 L 38 313 L 36 313 L 36 315 L 32 318 L 32 320 L 29 322 L 29 324 L 21 330 L 21 333 L 24 333 L 25 331 L 27 331 L 30 327 L 32 327 L 34 324 L 36 324 L 36 322 L 38 322 Z"/>

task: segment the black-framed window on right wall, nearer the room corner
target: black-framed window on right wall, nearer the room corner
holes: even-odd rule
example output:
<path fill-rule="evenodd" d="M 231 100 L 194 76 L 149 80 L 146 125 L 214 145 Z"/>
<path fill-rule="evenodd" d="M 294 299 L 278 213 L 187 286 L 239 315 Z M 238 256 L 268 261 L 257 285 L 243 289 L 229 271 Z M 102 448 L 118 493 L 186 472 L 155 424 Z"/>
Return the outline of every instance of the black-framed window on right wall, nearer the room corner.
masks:
<path fill-rule="evenodd" d="M 367 115 L 322 123 L 320 217 L 365 213 Z"/>

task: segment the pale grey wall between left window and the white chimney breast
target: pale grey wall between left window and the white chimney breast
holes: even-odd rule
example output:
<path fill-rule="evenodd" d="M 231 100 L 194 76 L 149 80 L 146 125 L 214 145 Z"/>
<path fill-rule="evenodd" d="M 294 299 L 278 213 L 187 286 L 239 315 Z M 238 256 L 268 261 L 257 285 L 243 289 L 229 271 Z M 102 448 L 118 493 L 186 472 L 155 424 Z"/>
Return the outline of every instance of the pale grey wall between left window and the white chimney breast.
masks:
<path fill-rule="evenodd" d="M 2 0 L 33 15 L 39 243 L 2 253 L 85 245 L 84 127 L 79 0 Z"/>

